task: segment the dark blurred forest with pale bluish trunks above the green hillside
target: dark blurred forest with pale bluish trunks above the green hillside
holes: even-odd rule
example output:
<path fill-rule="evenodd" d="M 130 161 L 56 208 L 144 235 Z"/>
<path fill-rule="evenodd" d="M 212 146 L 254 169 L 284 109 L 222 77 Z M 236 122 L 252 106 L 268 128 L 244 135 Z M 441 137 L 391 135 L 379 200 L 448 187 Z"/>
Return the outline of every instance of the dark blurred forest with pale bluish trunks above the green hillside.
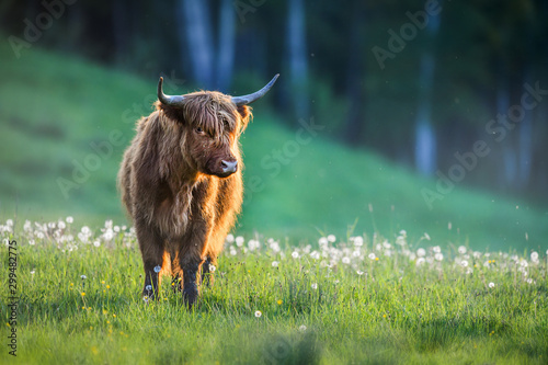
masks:
<path fill-rule="evenodd" d="M 482 139 L 491 152 L 466 182 L 547 197 L 548 95 L 512 128 L 498 119 L 525 84 L 548 89 L 546 1 L 8 0 L 4 38 L 25 41 L 24 20 L 61 5 L 39 46 L 229 93 L 281 72 L 273 100 L 288 125 L 313 116 L 430 175 Z"/>

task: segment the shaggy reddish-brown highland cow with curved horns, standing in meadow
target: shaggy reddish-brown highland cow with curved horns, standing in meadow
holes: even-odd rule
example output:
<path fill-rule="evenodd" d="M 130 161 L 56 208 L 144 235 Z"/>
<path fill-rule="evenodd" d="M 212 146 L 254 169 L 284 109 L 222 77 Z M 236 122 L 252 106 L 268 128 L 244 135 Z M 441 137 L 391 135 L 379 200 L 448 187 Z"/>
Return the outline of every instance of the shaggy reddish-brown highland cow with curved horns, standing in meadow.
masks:
<path fill-rule="evenodd" d="M 244 96 L 216 91 L 170 96 L 160 78 L 156 111 L 137 122 L 118 172 L 142 255 L 144 296 L 157 298 L 167 273 L 189 307 L 196 301 L 240 212 L 239 136 L 252 117 L 247 105 L 277 77 Z"/>

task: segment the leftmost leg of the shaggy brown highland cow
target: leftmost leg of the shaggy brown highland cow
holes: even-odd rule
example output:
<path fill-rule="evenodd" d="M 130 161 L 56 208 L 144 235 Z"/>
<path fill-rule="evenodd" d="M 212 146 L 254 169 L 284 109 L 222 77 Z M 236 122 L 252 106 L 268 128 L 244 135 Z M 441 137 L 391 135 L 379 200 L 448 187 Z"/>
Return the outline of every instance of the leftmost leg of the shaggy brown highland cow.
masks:
<path fill-rule="evenodd" d="M 136 233 L 145 266 L 142 296 L 155 299 L 158 298 L 160 271 L 163 263 L 163 239 L 157 229 L 148 225 L 136 224 Z"/>

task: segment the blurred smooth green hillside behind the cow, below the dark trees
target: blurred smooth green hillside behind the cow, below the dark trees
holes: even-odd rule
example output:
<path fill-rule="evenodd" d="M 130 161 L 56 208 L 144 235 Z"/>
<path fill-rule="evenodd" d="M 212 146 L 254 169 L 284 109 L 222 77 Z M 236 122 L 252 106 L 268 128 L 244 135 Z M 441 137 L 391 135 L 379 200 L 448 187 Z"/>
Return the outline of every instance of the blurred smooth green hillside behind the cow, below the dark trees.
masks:
<path fill-rule="evenodd" d="M 157 79 L 36 47 L 16 59 L 1 45 L 0 61 L 0 218 L 124 220 L 116 172 L 134 121 L 151 111 Z M 250 80 L 236 92 L 265 81 Z M 186 87 L 168 83 L 167 91 L 193 90 Z M 267 98 L 254 113 L 241 140 L 248 187 L 240 232 L 313 241 L 318 230 L 346 235 L 357 221 L 354 233 L 391 238 L 406 229 L 414 241 L 427 232 L 442 246 L 546 248 L 546 207 L 460 184 L 430 209 L 421 191 L 435 191 L 434 180 L 333 142 L 327 130 L 299 132 L 297 121 L 284 127 Z M 313 123 L 322 125 L 321 116 Z"/>

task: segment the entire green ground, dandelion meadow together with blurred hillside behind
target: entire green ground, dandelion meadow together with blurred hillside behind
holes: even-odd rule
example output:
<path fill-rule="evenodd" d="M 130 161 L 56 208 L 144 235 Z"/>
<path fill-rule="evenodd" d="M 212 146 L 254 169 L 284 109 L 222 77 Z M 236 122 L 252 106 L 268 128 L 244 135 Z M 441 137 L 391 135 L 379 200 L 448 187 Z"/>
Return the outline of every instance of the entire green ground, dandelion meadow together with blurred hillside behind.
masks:
<path fill-rule="evenodd" d="M 283 121 L 267 96 L 241 138 L 243 238 L 192 311 L 169 280 L 145 301 L 115 180 L 157 76 L 5 44 L 0 61 L 1 363 L 547 363 L 545 206 L 465 179 L 429 207 L 435 180 L 333 141 L 321 115 Z"/>

